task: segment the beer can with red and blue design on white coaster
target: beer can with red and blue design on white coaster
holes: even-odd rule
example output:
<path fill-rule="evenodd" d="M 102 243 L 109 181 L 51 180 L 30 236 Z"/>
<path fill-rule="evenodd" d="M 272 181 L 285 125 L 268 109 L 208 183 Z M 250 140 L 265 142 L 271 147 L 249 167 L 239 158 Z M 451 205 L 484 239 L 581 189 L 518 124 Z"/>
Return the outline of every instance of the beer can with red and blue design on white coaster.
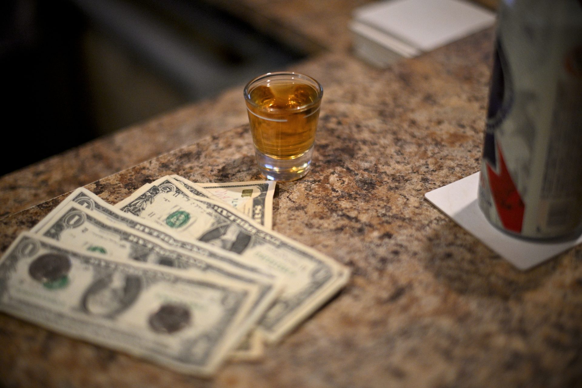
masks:
<path fill-rule="evenodd" d="M 478 202 L 534 239 L 582 228 L 582 1 L 501 2 Z"/>

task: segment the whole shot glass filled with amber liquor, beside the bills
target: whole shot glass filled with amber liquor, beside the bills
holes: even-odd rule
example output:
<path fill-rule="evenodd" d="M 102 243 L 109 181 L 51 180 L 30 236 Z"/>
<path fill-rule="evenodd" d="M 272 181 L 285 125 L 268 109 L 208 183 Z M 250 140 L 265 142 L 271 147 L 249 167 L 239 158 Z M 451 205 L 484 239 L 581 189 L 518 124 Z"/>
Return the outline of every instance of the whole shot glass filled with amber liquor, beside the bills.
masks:
<path fill-rule="evenodd" d="M 298 73 L 267 73 L 244 87 L 258 168 L 271 180 L 296 180 L 311 166 L 321 84 Z"/>

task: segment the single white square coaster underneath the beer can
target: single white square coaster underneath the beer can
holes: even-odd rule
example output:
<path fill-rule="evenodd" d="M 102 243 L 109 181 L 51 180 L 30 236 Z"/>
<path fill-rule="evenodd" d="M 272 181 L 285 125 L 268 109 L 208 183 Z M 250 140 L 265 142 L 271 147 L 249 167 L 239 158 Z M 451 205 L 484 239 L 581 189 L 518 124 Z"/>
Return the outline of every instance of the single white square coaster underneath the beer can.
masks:
<path fill-rule="evenodd" d="M 582 243 L 582 235 L 553 242 L 524 240 L 492 226 L 477 204 L 479 173 L 467 176 L 424 196 L 467 232 L 521 270 L 530 269 Z"/>

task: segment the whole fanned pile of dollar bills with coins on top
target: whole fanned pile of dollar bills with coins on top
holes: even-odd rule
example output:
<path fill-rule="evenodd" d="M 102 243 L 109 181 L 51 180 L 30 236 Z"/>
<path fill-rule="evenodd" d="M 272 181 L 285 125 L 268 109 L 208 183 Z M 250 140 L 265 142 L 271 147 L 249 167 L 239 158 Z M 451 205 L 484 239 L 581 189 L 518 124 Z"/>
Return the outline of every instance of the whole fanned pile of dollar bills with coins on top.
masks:
<path fill-rule="evenodd" d="M 78 188 L 0 259 L 0 310 L 192 375 L 260 359 L 349 278 L 271 230 L 274 185 L 165 176 L 116 205 Z"/>

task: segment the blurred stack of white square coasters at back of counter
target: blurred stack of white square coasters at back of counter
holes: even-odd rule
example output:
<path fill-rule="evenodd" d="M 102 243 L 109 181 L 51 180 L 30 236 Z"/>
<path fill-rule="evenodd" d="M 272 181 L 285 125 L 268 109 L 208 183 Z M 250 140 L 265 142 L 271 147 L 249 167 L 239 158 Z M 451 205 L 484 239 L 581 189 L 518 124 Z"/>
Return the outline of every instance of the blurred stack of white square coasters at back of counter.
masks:
<path fill-rule="evenodd" d="M 356 9 L 354 52 L 385 67 L 485 29 L 495 13 L 462 0 L 388 0 Z"/>

